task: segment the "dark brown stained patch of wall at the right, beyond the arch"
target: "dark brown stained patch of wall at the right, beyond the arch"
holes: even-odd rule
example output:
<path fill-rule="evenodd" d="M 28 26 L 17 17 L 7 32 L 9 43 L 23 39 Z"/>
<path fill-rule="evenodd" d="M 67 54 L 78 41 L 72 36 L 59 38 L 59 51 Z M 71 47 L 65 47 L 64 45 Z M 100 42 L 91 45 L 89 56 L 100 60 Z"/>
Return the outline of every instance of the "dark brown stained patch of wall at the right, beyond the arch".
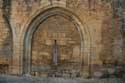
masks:
<path fill-rule="evenodd" d="M 113 15 L 107 14 L 102 23 L 101 34 L 102 51 L 100 52 L 100 59 L 103 65 L 118 65 L 122 58 L 122 37 L 119 18 L 114 18 Z"/>

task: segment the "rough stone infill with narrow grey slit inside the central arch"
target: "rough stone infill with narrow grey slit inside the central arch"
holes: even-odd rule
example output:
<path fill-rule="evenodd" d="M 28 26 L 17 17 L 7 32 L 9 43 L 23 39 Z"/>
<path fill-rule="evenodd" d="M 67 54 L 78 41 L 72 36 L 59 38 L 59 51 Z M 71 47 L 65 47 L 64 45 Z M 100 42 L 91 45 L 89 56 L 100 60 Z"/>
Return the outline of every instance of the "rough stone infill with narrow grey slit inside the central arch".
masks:
<path fill-rule="evenodd" d="M 80 76 L 82 39 L 76 27 L 66 16 L 58 14 L 48 17 L 38 26 L 32 38 L 32 75 L 60 74 L 62 77 L 68 73 L 71 76 L 74 74 L 71 71 L 75 71 Z"/>

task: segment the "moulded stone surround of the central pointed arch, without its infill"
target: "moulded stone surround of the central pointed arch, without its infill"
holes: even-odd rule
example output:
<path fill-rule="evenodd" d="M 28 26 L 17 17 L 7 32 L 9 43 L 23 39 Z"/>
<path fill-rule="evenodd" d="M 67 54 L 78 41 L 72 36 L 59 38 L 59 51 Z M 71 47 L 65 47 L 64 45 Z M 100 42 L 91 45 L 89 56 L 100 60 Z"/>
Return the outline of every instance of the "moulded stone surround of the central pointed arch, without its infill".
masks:
<path fill-rule="evenodd" d="M 30 73 L 32 71 L 32 44 L 33 34 L 37 31 L 37 28 L 44 23 L 48 18 L 53 16 L 61 16 L 68 19 L 76 27 L 76 31 L 80 37 L 80 61 L 81 67 L 88 67 L 89 55 L 90 55 L 90 35 L 87 32 L 85 26 L 81 23 L 80 19 L 64 8 L 52 7 L 40 14 L 38 14 L 28 25 L 28 29 L 24 38 L 24 56 L 23 56 L 23 73 Z M 58 41 L 57 41 L 58 42 Z M 81 69 L 82 70 L 82 69 Z"/>

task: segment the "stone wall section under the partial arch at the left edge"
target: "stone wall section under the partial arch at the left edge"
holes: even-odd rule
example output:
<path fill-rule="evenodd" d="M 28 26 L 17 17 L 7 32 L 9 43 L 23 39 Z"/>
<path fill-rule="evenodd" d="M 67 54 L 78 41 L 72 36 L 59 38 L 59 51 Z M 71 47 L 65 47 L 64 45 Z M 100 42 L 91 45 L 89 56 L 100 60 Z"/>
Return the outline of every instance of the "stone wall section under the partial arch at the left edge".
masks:
<path fill-rule="evenodd" d="M 12 65 L 12 31 L 9 27 L 9 16 L 5 17 L 4 9 L 6 9 L 6 4 L 0 1 L 0 73 L 8 73 Z"/>

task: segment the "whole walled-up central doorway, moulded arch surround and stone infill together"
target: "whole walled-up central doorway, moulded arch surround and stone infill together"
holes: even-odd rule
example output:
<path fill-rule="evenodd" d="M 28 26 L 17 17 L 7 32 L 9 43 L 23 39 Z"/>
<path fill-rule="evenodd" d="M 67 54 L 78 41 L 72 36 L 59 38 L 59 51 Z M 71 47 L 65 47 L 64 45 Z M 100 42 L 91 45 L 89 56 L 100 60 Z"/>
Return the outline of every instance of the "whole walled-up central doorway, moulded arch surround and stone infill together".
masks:
<path fill-rule="evenodd" d="M 80 77 L 88 73 L 89 33 L 77 16 L 53 7 L 28 24 L 24 36 L 23 74 Z"/>

